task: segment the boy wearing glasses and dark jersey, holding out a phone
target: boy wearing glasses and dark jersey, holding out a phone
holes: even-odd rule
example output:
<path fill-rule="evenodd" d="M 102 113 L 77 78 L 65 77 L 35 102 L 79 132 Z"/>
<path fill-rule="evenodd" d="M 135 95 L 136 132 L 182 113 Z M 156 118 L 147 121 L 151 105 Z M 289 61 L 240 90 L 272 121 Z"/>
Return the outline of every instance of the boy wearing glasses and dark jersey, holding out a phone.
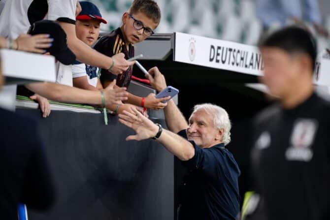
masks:
<path fill-rule="evenodd" d="M 154 33 L 161 20 L 161 11 L 153 0 L 134 0 L 131 7 L 123 14 L 123 24 L 120 28 L 112 31 L 109 35 L 99 39 L 94 49 L 106 56 L 124 53 L 125 59 L 134 57 L 134 43 L 145 40 Z M 153 71 L 152 68 L 149 71 Z M 106 69 L 101 69 L 100 81 L 103 87 L 117 79 L 118 87 L 128 87 L 132 78 L 132 66 L 118 76 L 113 75 Z M 166 106 L 162 103 L 166 98 L 155 98 L 154 94 L 147 97 L 139 97 L 129 94 L 124 105 L 110 105 L 108 109 L 121 113 L 123 110 L 131 111 L 131 104 L 151 109 L 161 109 Z M 130 103 L 130 104 L 128 104 Z"/>

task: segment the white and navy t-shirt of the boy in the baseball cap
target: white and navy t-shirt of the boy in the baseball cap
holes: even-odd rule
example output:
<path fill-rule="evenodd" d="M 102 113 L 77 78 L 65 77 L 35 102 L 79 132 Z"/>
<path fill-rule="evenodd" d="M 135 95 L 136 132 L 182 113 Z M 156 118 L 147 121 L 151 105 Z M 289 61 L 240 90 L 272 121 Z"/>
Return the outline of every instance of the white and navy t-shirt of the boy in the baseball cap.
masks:
<path fill-rule="evenodd" d="M 98 84 L 98 76 L 99 73 L 99 68 L 95 66 L 90 66 L 85 63 L 80 63 L 80 62 L 75 62 L 72 65 L 72 77 L 77 78 L 77 77 L 82 77 L 86 76 L 88 83 L 94 87 L 97 86 Z"/>

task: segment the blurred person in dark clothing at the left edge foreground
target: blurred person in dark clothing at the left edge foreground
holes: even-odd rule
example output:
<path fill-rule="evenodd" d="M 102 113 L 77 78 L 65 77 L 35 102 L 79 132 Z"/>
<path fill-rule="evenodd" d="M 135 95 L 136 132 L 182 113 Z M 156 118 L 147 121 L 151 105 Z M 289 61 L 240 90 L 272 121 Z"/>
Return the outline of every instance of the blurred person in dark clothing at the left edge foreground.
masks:
<path fill-rule="evenodd" d="M 0 66 L 0 89 L 3 78 Z M 17 220 L 19 203 L 47 210 L 54 188 L 37 124 L 0 108 L 0 219 Z"/>

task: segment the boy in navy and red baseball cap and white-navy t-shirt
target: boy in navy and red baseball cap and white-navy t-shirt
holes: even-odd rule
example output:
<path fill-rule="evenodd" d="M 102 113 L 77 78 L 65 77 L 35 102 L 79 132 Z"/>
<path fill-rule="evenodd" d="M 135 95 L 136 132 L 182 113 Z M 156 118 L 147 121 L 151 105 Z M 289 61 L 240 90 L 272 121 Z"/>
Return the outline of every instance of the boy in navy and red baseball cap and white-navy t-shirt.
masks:
<path fill-rule="evenodd" d="M 107 22 L 102 18 L 99 8 L 89 1 L 80 1 L 81 12 L 76 17 L 76 35 L 78 39 L 92 46 L 99 37 L 100 23 Z M 99 68 L 75 61 L 72 65 L 73 86 L 87 90 L 101 90 L 98 76 Z"/>

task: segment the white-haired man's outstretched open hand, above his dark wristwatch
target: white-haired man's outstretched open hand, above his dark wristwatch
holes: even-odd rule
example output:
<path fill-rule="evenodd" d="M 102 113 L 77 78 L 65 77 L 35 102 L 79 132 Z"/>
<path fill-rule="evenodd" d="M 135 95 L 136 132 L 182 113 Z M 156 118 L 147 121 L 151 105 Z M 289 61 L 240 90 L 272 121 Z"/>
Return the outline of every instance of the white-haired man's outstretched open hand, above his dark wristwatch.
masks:
<path fill-rule="evenodd" d="M 124 110 L 123 114 L 118 115 L 120 123 L 132 128 L 136 132 L 135 135 L 128 136 L 126 140 L 140 141 L 154 137 L 157 134 L 159 127 L 143 116 L 135 108 L 132 108 L 132 112 L 133 114 Z"/>

